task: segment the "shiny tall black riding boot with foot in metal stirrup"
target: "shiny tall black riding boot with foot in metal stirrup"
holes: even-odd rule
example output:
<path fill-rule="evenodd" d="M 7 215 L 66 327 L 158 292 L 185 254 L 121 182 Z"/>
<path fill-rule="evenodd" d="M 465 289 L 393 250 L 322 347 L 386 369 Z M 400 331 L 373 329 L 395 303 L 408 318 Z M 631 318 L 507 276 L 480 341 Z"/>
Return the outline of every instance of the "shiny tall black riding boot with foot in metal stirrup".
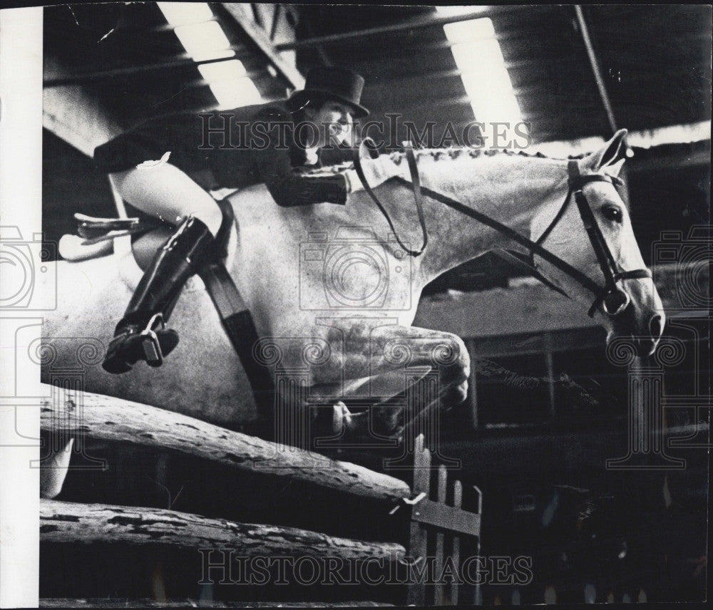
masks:
<path fill-rule="evenodd" d="M 125 373 L 139 360 L 161 366 L 163 357 L 178 345 L 178 333 L 166 329 L 165 322 L 190 276 L 225 257 L 233 222 L 232 207 L 225 204 L 220 202 L 223 222 L 217 237 L 198 218 L 188 217 L 158 249 L 116 325 L 102 363 L 105 371 Z"/>

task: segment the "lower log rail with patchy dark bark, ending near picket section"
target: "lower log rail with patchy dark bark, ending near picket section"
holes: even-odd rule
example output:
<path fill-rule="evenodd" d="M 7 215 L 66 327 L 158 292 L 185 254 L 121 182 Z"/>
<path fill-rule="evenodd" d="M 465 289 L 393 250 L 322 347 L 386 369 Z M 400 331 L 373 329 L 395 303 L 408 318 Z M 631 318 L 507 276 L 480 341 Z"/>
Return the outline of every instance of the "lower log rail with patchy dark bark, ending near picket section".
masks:
<path fill-rule="evenodd" d="M 235 549 L 245 557 L 372 557 L 404 560 L 406 550 L 394 542 L 361 542 L 295 527 L 245 524 L 208 519 L 161 508 L 40 501 L 43 543 L 158 544 L 182 549 Z"/>

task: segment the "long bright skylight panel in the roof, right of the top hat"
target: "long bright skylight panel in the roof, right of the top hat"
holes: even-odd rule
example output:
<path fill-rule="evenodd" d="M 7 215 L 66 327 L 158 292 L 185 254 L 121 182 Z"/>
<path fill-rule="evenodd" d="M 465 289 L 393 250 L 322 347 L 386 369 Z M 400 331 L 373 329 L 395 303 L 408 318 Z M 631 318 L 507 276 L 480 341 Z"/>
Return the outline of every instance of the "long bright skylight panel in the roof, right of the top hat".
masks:
<path fill-rule="evenodd" d="M 503 52 L 487 17 L 443 26 L 476 120 L 515 125 L 522 113 L 508 75 Z"/>

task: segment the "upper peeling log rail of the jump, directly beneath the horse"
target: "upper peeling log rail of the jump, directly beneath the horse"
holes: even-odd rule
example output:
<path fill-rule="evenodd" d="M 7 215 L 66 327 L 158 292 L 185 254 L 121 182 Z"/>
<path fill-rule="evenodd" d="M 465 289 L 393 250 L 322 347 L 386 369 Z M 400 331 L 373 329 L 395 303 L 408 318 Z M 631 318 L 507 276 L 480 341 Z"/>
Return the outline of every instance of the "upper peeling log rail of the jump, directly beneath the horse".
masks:
<path fill-rule="evenodd" d="M 50 397 L 41 400 L 41 428 L 48 433 L 175 451 L 378 500 L 411 497 L 406 482 L 350 462 L 277 445 L 131 400 L 43 385 Z"/>

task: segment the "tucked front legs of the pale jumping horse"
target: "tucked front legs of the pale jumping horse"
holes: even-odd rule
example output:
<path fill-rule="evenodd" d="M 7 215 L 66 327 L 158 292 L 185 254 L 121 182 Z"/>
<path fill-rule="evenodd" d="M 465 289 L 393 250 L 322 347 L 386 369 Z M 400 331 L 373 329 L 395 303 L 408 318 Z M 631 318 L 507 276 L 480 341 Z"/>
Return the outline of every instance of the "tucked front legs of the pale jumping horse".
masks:
<path fill-rule="evenodd" d="M 399 326 L 389 319 L 324 319 L 309 338 L 272 338 L 263 347 L 266 358 L 268 353 L 275 362 L 279 358 L 276 375 L 289 377 L 277 383 L 293 388 L 285 396 L 292 403 L 289 410 L 334 405 L 342 398 L 368 399 L 371 428 L 385 435 L 397 433 L 434 400 L 452 405 L 466 398 L 470 360 L 465 344 L 453 334 Z M 299 387 L 303 391 L 294 391 Z M 400 413 L 404 396 L 414 402 L 406 415 Z M 350 428 L 369 431 L 364 415 L 350 417 L 337 405 L 334 420 L 340 415 Z"/>

